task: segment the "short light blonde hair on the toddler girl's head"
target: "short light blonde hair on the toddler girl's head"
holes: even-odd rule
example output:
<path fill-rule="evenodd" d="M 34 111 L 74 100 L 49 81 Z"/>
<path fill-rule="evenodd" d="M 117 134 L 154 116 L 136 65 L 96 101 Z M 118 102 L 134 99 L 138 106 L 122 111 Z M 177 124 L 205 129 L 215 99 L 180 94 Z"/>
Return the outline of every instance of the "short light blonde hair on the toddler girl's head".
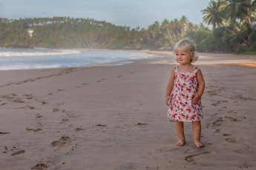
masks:
<path fill-rule="evenodd" d="M 174 53 L 179 51 L 186 51 L 191 53 L 191 63 L 197 61 L 199 56 L 197 55 L 196 48 L 194 47 L 194 43 L 188 39 L 181 39 L 174 46 Z"/>

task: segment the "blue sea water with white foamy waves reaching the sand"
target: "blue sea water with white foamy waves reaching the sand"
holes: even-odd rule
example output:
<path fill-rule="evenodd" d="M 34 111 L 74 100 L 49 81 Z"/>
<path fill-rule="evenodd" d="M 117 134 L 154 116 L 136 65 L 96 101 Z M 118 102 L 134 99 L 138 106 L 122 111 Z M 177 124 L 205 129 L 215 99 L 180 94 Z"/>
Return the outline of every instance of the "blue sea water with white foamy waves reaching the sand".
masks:
<path fill-rule="evenodd" d="M 0 70 L 120 65 L 131 63 L 132 60 L 155 57 L 157 55 L 121 50 L 0 48 Z"/>

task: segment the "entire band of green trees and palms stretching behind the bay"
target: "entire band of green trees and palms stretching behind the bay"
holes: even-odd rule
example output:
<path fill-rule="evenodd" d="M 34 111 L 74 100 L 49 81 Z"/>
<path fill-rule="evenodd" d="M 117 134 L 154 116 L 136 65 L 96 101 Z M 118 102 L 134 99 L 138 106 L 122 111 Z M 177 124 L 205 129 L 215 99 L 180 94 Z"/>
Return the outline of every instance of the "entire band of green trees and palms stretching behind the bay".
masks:
<path fill-rule="evenodd" d="M 91 18 L 0 18 L 0 46 L 167 50 L 180 38 L 190 38 L 199 52 L 255 54 L 256 1 L 211 0 L 202 13 L 212 28 L 192 24 L 186 16 L 155 21 L 147 29 Z"/>

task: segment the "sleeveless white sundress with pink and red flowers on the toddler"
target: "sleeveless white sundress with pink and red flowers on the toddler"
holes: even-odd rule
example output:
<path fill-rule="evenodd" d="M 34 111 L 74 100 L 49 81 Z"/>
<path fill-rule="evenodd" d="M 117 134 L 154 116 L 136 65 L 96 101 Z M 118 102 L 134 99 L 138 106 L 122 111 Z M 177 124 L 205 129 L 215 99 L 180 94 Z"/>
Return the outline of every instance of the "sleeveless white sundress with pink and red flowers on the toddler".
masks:
<path fill-rule="evenodd" d="M 195 122 L 203 119 L 201 101 L 192 104 L 194 95 L 198 91 L 197 71 L 179 72 L 178 66 L 174 67 L 174 88 L 171 92 L 171 103 L 167 112 L 168 118 L 182 122 Z"/>

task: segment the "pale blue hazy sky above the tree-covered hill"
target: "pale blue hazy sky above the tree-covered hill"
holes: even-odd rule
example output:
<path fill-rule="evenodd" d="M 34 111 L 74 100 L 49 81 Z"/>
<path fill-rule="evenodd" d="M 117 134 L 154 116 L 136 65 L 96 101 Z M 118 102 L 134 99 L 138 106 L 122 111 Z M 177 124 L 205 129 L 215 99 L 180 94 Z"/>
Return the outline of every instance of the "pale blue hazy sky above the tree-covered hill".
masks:
<path fill-rule="evenodd" d="M 93 18 L 119 26 L 148 28 L 155 21 L 186 16 L 203 22 L 211 0 L 0 0 L 0 18 L 69 16 Z"/>

